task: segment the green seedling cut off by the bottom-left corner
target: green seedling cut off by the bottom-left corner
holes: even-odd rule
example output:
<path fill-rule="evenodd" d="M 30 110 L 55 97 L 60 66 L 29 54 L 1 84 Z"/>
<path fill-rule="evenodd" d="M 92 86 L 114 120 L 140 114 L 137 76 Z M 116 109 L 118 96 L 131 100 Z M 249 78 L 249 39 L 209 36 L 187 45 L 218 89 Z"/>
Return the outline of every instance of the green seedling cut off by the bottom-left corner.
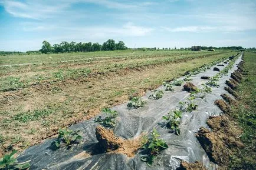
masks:
<path fill-rule="evenodd" d="M 30 167 L 30 164 L 29 164 L 30 161 L 18 163 L 17 159 L 14 158 L 14 154 L 16 153 L 17 151 L 12 151 L 11 154 L 4 155 L 4 157 L 0 159 L 0 169 L 3 169 L 3 170 L 28 169 Z"/>

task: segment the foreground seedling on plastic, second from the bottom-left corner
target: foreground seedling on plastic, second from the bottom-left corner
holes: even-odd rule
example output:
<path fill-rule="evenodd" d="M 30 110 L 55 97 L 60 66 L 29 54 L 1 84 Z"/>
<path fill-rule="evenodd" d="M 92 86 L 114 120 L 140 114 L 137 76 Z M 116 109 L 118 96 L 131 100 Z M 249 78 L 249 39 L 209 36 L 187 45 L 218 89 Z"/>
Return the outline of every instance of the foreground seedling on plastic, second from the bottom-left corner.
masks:
<path fill-rule="evenodd" d="M 72 144 L 79 142 L 82 139 L 82 136 L 78 134 L 79 131 L 72 131 L 68 129 L 59 129 L 58 130 L 58 139 L 56 139 L 52 144 L 52 149 L 60 148 L 61 144 L 68 145 L 70 147 Z"/>

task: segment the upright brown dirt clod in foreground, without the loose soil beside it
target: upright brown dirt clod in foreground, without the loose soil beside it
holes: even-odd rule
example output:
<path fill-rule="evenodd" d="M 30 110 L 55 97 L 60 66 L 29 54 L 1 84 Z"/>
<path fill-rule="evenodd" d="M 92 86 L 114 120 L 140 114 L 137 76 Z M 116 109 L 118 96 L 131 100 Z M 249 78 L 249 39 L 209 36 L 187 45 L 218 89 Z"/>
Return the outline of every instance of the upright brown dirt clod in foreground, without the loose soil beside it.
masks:
<path fill-rule="evenodd" d="M 114 136 L 113 131 L 102 126 L 96 128 L 96 138 L 103 152 L 114 151 L 123 145 L 123 140 Z"/>

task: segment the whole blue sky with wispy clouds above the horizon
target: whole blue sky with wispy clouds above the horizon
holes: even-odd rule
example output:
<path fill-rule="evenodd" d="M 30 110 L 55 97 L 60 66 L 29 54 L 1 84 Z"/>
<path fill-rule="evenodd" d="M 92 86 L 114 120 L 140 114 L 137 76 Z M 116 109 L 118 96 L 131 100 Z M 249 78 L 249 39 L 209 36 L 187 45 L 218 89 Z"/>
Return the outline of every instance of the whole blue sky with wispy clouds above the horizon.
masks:
<path fill-rule="evenodd" d="M 130 48 L 253 47 L 256 1 L 0 0 L 0 51 L 110 38 Z"/>

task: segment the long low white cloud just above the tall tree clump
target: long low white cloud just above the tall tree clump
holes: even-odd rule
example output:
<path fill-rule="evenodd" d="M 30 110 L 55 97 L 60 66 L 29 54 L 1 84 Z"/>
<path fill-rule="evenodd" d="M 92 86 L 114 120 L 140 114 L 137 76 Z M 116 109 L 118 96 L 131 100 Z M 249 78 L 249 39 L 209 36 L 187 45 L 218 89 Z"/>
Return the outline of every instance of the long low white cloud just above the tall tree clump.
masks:
<path fill-rule="evenodd" d="M 81 39 L 86 37 L 88 39 L 106 39 L 114 37 L 127 36 L 146 36 L 154 31 L 154 28 L 145 26 L 138 26 L 132 22 L 127 22 L 121 26 L 54 26 L 50 24 L 33 24 L 32 22 L 25 22 L 22 24 L 24 31 L 51 31 L 56 32 L 55 38 L 50 39 Z"/>

